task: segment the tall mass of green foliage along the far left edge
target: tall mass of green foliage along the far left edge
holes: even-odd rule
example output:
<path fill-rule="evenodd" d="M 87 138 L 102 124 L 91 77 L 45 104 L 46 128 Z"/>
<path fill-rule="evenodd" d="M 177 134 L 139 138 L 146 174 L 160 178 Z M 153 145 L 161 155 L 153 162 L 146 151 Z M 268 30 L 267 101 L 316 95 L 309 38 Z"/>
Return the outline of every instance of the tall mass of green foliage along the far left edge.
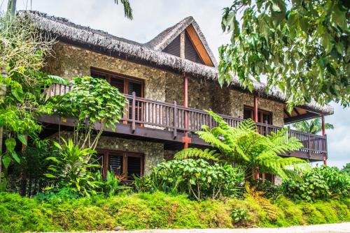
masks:
<path fill-rule="evenodd" d="M 45 103 L 42 94 L 52 77 L 41 68 L 53 44 L 29 21 L 0 15 L 0 163 L 5 168 L 12 161 L 20 163 L 15 148 L 18 142 L 27 144 L 25 135 L 37 138 L 41 125 L 36 117 L 52 113 L 52 105 Z M 3 137 L 6 151 L 2 153 Z"/>

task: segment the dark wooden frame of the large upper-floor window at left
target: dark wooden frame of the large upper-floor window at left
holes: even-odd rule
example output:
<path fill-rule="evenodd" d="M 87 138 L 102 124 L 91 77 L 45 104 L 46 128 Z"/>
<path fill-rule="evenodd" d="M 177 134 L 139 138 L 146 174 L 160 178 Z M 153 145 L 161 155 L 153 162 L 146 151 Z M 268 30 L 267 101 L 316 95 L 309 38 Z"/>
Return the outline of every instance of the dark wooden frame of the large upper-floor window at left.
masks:
<path fill-rule="evenodd" d="M 116 73 L 110 70 L 104 70 L 102 68 L 97 68 L 94 66 L 90 67 L 90 76 L 92 76 L 93 73 L 101 73 L 103 75 L 106 75 L 106 81 L 111 83 L 111 78 L 116 78 L 119 80 L 123 80 L 123 94 L 128 94 L 129 90 L 129 82 L 135 82 L 138 84 L 141 84 L 141 98 L 144 98 L 144 87 L 145 87 L 145 80 L 142 80 L 137 77 L 132 77 L 129 75 L 124 75 L 121 73 Z"/>

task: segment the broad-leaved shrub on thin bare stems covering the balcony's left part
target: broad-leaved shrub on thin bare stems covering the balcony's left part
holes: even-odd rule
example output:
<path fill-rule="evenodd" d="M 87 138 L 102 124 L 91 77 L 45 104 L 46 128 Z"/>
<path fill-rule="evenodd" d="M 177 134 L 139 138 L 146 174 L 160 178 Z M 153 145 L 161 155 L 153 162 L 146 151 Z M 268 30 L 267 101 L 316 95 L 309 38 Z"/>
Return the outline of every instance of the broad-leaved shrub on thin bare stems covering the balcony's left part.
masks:
<path fill-rule="evenodd" d="M 57 114 L 76 117 L 73 142 L 95 149 L 106 128 L 115 130 L 123 117 L 126 98 L 106 80 L 93 77 L 76 77 L 71 91 L 49 99 Z M 97 130 L 96 135 L 92 135 Z"/>

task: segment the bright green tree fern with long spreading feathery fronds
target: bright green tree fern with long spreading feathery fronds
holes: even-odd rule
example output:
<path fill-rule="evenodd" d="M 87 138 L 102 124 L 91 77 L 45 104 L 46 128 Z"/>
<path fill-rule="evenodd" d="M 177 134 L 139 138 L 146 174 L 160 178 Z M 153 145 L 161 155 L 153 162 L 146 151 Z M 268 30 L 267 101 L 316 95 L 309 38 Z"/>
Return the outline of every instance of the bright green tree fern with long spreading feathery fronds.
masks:
<path fill-rule="evenodd" d="M 254 121 L 241 121 L 237 127 L 228 125 L 214 112 L 207 111 L 218 126 L 210 129 L 203 126 L 197 132 L 204 142 L 214 147 L 212 151 L 200 149 L 184 149 L 176 153 L 176 159 L 200 157 L 210 160 L 223 160 L 228 163 L 246 167 L 247 178 L 259 172 L 276 174 L 283 179 L 297 176 L 293 169 L 304 169 L 305 161 L 295 157 L 281 158 L 282 154 L 295 151 L 302 144 L 295 137 L 290 137 L 286 129 L 271 135 L 260 135 Z"/>

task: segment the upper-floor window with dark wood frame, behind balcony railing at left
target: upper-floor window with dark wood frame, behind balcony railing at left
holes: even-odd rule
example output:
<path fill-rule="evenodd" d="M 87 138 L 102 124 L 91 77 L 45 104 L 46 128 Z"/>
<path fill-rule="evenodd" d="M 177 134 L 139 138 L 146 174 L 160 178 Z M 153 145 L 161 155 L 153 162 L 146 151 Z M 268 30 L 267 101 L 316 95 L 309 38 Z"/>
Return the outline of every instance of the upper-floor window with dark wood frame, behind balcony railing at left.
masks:
<path fill-rule="evenodd" d="M 132 95 L 135 91 L 137 97 L 144 97 L 144 81 L 134 77 L 126 77 L 107 70 L 91 68 L 91 77 L 103 78 L 111 84 L 111 86 L 119 89 L 120 93 Z"/>

